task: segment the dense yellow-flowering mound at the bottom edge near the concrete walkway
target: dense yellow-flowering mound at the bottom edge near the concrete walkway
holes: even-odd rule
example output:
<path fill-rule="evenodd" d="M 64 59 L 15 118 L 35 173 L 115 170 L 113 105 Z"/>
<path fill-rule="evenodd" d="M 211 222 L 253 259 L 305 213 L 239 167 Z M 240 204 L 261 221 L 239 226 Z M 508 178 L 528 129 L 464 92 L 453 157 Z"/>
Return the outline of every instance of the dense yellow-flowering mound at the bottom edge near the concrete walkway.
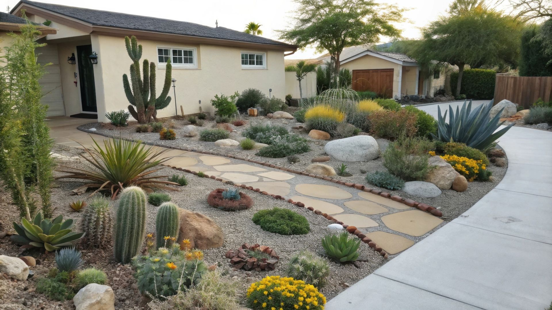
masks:
<path fill-rule="evenodd" d="M 251 284 L 247 290 L 247 304 L 254 310 L 323 310 L 326 297 L 305 281 L 267 276 Z"/>

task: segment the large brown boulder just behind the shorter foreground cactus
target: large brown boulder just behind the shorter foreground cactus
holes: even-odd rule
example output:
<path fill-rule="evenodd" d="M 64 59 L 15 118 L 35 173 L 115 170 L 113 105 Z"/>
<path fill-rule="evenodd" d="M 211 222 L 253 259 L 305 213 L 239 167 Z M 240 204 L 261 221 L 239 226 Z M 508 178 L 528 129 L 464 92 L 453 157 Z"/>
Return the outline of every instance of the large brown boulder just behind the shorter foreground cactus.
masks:
<path fill-rule="evenodd" d="M 192 248 L 200 250 L 222 247 L 222 229 L 209 217 L 184 209 L 178 210 L 178 216 L 180 218 L 178 243 L 189 239 Z"/>

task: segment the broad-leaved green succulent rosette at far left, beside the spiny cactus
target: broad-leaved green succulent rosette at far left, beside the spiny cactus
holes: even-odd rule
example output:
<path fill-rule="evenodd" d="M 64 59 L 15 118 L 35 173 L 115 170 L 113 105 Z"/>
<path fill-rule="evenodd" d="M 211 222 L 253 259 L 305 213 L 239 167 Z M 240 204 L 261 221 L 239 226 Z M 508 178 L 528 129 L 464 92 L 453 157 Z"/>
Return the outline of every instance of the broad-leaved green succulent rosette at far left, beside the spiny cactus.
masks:
<path fill-rule="evenodd" d="M 33 247 L 45 248 L 46 252 L 54 252 L 62 247 L 73 245 L 73 242 L 81 239 L 84 233 L 71 231 L 73 220 L 63 221 L 60 215 L 54 220 L 43 218 L 42 212 L 36 213 L 32 222 L 21 218 L 21 224 L 13 222 L 13 228 L 17 234 L 12 235 L 12 240 L 18 244 L 30 244 Z"/>

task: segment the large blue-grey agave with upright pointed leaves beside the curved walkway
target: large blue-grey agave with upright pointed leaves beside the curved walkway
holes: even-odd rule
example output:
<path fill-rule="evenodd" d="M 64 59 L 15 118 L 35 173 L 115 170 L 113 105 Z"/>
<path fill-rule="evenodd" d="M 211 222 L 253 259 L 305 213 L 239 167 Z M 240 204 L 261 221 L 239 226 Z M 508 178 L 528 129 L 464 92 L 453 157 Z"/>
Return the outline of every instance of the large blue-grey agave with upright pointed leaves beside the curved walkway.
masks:
<path fill-rule="evenodd" d="M 462 108 L 457 106 L 456 113 L 452 106 L 449 105 L 449 122 L 446 123 L 447 111 L 444 115 L 441 115 L 441 109 L 438 109 L 437 118 L 437 136 L 431 134 L 434 139 L 443 142 L 462 142 L 469 147 L 479 149 L 480 151 L 487 151 L 491 147 L 496 145 L 495 140 L 500 138 L 506 133 L 514 124 L 508 125 L 506 128 L 498 130 L 500 124 L 501 109 L 498 111 L 495 117 L 490 119 L 490 113 L 492 109 L 493 100 L 489 104 L 477 106 L 473 111 L 471 110 L 471 100 L 468 103 L 464 100 Z M 495 132 L 496 131 L 496 132 Z"/>

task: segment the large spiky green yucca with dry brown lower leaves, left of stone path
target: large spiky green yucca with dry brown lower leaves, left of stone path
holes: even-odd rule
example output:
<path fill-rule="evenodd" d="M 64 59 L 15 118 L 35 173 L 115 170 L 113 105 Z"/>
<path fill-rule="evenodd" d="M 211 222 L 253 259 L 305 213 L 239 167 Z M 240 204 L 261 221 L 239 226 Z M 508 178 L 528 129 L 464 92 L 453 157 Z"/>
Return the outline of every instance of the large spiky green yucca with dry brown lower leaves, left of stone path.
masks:
<path fill-rule="evenodd" d="M 84 150 L 88 153 L 88 157 L 81 154 L 82 158 L 92 164 L 91 169 L 61 166 L 76 171 L 57 170 L 68 174 L 56 177 L 56 180 L 64 178 L 86 180 L 82 182 L 84 185 L 73 190 L 74 193 L 83 194 L 88 189 L 95 189 L 92 196 L 98 191 L 108 190 L 113 200 L 120 190 L 130 185 L 139 186 L 148 193 L 154 189 L 177 190 L 166 185 L 179 185 L 178 183 L 158 180 L 167 178 L 168 175 L 151 176 L 152 173 L 162 169 L 151 168 L 170 158 L 160 158 L 166 150 L 153 151 L 152 147 L 146 147 L 142 141 L 109 139 L 104 140 L 103 148 L 93 138 L 92 141 L 97 155 L 86 147 Z"/>

